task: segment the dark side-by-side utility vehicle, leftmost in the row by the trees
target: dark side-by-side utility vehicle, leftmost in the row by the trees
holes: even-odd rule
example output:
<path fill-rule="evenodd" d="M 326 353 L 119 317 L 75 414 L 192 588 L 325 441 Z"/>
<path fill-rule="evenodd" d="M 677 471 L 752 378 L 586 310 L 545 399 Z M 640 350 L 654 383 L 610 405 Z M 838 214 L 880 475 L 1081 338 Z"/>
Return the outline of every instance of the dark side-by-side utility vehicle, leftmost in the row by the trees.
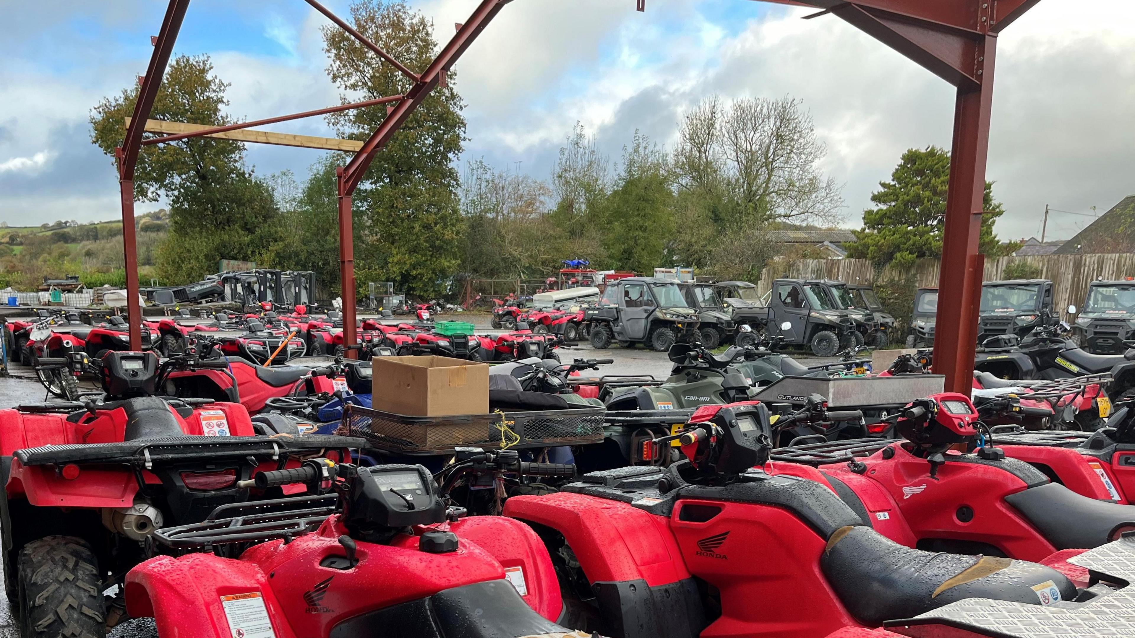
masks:
<path fill-rule="evenodd" d="M 591 347 L 641 343 L 666 352 L 683 331 L 697 328 L 698 312 L 670 279 L 627 277 L 607 285 L 598 305 L 583 309 Z"/>

